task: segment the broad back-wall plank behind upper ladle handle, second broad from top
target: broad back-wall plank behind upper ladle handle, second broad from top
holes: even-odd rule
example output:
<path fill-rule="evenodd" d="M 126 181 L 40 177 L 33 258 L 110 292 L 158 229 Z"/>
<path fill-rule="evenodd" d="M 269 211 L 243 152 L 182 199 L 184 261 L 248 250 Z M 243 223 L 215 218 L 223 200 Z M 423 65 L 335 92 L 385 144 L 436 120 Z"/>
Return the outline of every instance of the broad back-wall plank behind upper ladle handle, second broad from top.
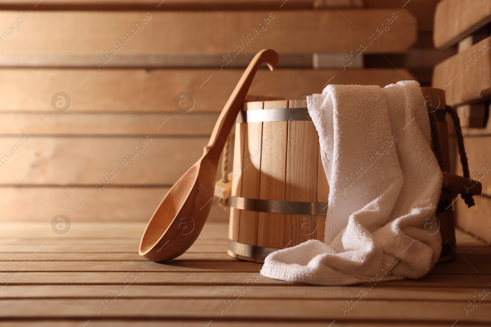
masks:
<path fill-rule="evenodd" d="M 222 71 L 220 69 L 155 69 L 153 71 L 1 69 L 0 111 L 56 113 L 51 100 L 55 93 L 61 91 L 72 99 L 72 106 L 66 113 L 81 111 L 180 113 L 174 105 L 174 98 L 180 92 L 188 92 L 194 99 L 194 107 L 190 113 L 220 112 L 243 72 L 242 69 L 227 68 Z M 304 92 L 321 93 L 329 79 L 331 84 L 383 87 L 406 78 L 414 77 L 405 69 L 399 71 L 395 69 L 347 69 L 345 71 L 278 69 L 275 72 L 261 69 L 255 76 L 249 94 L 297 99 Z M 185 110 L 181 109 L 181 111 Z M 157 127 L 158 125 L 155 129 Z"/>

